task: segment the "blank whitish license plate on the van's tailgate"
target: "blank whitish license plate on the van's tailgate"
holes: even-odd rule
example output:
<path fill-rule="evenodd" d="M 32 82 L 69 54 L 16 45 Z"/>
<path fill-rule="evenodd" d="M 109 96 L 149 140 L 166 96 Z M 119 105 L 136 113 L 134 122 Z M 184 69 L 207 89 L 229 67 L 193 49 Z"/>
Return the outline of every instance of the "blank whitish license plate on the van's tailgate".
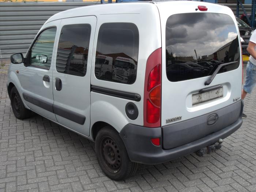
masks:
<path fill-rule="evenodd" d="M 192 105 L 211 101 L 213 99 L 217 99 L 220 97 L 223 97 L 223 87 L 220 87 L 218 89 L 214 89 L 211 91 L 207 91 L 204 93 L 193 94 L 192 95 Z"/>

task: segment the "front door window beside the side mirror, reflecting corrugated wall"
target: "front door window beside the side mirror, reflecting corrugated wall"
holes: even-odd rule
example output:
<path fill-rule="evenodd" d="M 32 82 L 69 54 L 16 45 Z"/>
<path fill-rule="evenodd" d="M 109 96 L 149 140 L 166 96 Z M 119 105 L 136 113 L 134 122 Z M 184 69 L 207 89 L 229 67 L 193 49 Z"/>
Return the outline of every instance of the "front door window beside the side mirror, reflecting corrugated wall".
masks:
<path fill-rule="evenodd" d="M 50 69 L 56 28 L 44 30 L 35 40 L 31 48 L 30 65 Z"/>

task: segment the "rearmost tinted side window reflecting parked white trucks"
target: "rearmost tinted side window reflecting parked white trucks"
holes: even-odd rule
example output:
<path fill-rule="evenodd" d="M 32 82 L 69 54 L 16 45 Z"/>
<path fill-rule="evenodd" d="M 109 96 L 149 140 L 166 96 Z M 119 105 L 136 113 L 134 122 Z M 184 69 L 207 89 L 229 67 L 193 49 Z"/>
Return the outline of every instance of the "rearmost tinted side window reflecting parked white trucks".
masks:
<path fill-rule="evenodd" d="M 97 79 L 132 84 L 136 80 L 139 31 L 133 23 L 104 23 L 95 57 Z"/>

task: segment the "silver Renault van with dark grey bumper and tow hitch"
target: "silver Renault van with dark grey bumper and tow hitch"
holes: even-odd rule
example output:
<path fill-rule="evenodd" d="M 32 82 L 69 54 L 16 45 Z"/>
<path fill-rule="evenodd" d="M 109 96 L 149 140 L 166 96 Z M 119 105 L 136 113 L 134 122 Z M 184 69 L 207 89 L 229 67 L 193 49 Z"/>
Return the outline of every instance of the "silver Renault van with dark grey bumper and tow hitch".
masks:
<path fill-rule="evenodd" d="M 114 180 L 132 176 L 138 163 L 214 152 L 242 124 L 240 35 L 222 5 L 150 1 L 63 11 L 11 63 L 15 116 L 33 111 L 94 141 Z"/>

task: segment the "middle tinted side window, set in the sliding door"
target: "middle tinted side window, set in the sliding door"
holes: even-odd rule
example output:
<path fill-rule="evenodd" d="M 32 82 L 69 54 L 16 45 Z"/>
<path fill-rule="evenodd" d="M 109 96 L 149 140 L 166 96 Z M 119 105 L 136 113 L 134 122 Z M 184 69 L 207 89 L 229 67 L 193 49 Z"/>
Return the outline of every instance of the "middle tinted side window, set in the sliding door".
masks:
<path fill-rule="evenodd" d="M 76 76 L 86 75 L 90 35 L 89 24 L 63 26 L 57 50 L 57 72 Z"/>

